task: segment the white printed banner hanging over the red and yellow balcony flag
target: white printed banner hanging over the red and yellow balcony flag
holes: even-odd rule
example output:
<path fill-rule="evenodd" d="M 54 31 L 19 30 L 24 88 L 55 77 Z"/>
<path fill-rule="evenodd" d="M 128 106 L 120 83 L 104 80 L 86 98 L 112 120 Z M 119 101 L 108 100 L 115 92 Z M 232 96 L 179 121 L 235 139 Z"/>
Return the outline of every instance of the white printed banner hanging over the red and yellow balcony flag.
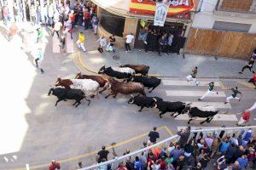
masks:
<path fill-rule="evenodd" d="M 164 26 L 169 5 L 166 3 L 156 3 L 154 13 L 154 26 Z"/>

